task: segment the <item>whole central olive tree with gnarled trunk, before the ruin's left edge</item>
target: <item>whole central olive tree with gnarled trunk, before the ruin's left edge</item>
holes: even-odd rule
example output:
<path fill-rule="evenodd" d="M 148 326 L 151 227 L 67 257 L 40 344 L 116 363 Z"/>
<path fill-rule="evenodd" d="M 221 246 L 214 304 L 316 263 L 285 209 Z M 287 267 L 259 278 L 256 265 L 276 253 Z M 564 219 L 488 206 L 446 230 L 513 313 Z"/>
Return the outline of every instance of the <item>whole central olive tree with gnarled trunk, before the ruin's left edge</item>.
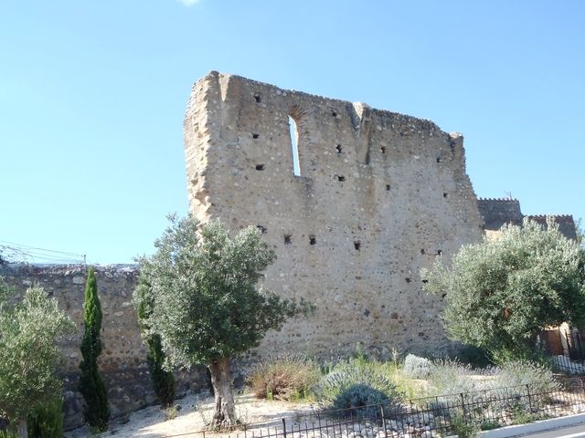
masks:
<path fill-rule="evenodd" d="M 215 391 L 213 425 L 233 426 L 229 359 L 311 307 L 257 287 L 276 255 L 255 227 L 230 238 L 219 221 L 201 226 L 193 216 L 170 221 L 154 244 L 155 254 L 140 259 L 140 276 L 147 276 L 153 300 L 146 326 L 160 335 L 167 367 L 207 366 Z"/>

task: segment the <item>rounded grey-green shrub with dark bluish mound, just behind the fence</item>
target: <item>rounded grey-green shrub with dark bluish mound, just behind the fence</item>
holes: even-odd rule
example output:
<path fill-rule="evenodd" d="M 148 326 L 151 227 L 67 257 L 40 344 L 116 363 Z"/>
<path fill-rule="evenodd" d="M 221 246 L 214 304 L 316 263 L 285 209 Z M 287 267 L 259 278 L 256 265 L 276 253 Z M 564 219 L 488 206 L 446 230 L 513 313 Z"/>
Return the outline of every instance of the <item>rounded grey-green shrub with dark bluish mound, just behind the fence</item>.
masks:
<path fill-rule="evenodd" d="M 365 406 L 382 401 L 398 403 L 402 397 L 384 367 L 359 359 L 339 362 L 319 381 L 315 395 L 324 411 L 349 410 L 343 413 L 358 416 L 375 415 L 379 410 L 379 406 Z"/>

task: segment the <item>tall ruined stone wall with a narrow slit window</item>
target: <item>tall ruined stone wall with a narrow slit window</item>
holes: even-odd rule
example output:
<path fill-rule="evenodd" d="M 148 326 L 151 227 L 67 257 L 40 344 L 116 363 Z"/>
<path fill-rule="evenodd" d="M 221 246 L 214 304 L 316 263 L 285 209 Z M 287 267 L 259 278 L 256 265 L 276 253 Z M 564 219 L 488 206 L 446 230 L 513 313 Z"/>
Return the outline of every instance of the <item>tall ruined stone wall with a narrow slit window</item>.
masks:
<path fill-rule="evenodd" d="M 448 348 L 441 299 L 421 291 L 419 271 L 482 236 L 460 134 L 217 72 L 194 85 L 184 131 L 191 211 L 259 226 L 278 255 L 263 286 L 317 306 L 261 354 Z"/>

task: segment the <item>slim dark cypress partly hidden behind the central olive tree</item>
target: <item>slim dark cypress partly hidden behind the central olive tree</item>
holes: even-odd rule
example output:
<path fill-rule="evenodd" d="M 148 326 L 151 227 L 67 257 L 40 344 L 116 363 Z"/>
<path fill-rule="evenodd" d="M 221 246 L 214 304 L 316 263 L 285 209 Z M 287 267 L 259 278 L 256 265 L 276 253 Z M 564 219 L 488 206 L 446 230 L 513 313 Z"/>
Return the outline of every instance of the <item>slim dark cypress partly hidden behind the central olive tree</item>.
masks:
<path fill-rule="evenodd" d="M 141 271 L 142 275 L 139 276 L 138 285 L 133 293 L 134 307 L 138 315 L 141 335 L 148 346 L 146 360 L 154 392 L 163 406 L 170 407 L 175 401 L 175 376 L 173 371 L 164 369 L 166 355 L 163 351 L 160 335 L 149 330 L 147 320 L 152 315 L 154 306 L 153 290 L 148 274 L 150 265 L 144 259 L 139 259 L 139 262 L 143 271 Z"/>

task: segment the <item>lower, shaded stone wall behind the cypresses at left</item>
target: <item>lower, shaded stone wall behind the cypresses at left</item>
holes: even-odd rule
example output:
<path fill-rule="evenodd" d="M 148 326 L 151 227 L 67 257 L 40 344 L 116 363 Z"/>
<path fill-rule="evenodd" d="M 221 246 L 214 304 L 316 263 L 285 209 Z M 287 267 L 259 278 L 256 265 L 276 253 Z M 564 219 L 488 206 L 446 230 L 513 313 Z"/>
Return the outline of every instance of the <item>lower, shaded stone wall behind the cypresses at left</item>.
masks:
<path fill-rule="evenodd" d="M 132 304 L 137 266 L 96 266 L 95 273 L 103 312 L 101 376 L 108 388 L 112 418 L 120 417 L 155 401 L 146 346 Z M 61 372 L 65 381 L 65 427 L 80 426 L 83 424 L 82 396 L 77 387 L 87 266 L 0 265 L 0 276 L 20 293 L 33 284 L 44 287 L 50 296 L 58 299 L 59 308 L 75 321 L 77 330 L 61 344 L 66 360 Z M 197 390 L 206 385 L 205 375 L 197 370 L 179 377 L 179 393 L 188 386 Z"/>

